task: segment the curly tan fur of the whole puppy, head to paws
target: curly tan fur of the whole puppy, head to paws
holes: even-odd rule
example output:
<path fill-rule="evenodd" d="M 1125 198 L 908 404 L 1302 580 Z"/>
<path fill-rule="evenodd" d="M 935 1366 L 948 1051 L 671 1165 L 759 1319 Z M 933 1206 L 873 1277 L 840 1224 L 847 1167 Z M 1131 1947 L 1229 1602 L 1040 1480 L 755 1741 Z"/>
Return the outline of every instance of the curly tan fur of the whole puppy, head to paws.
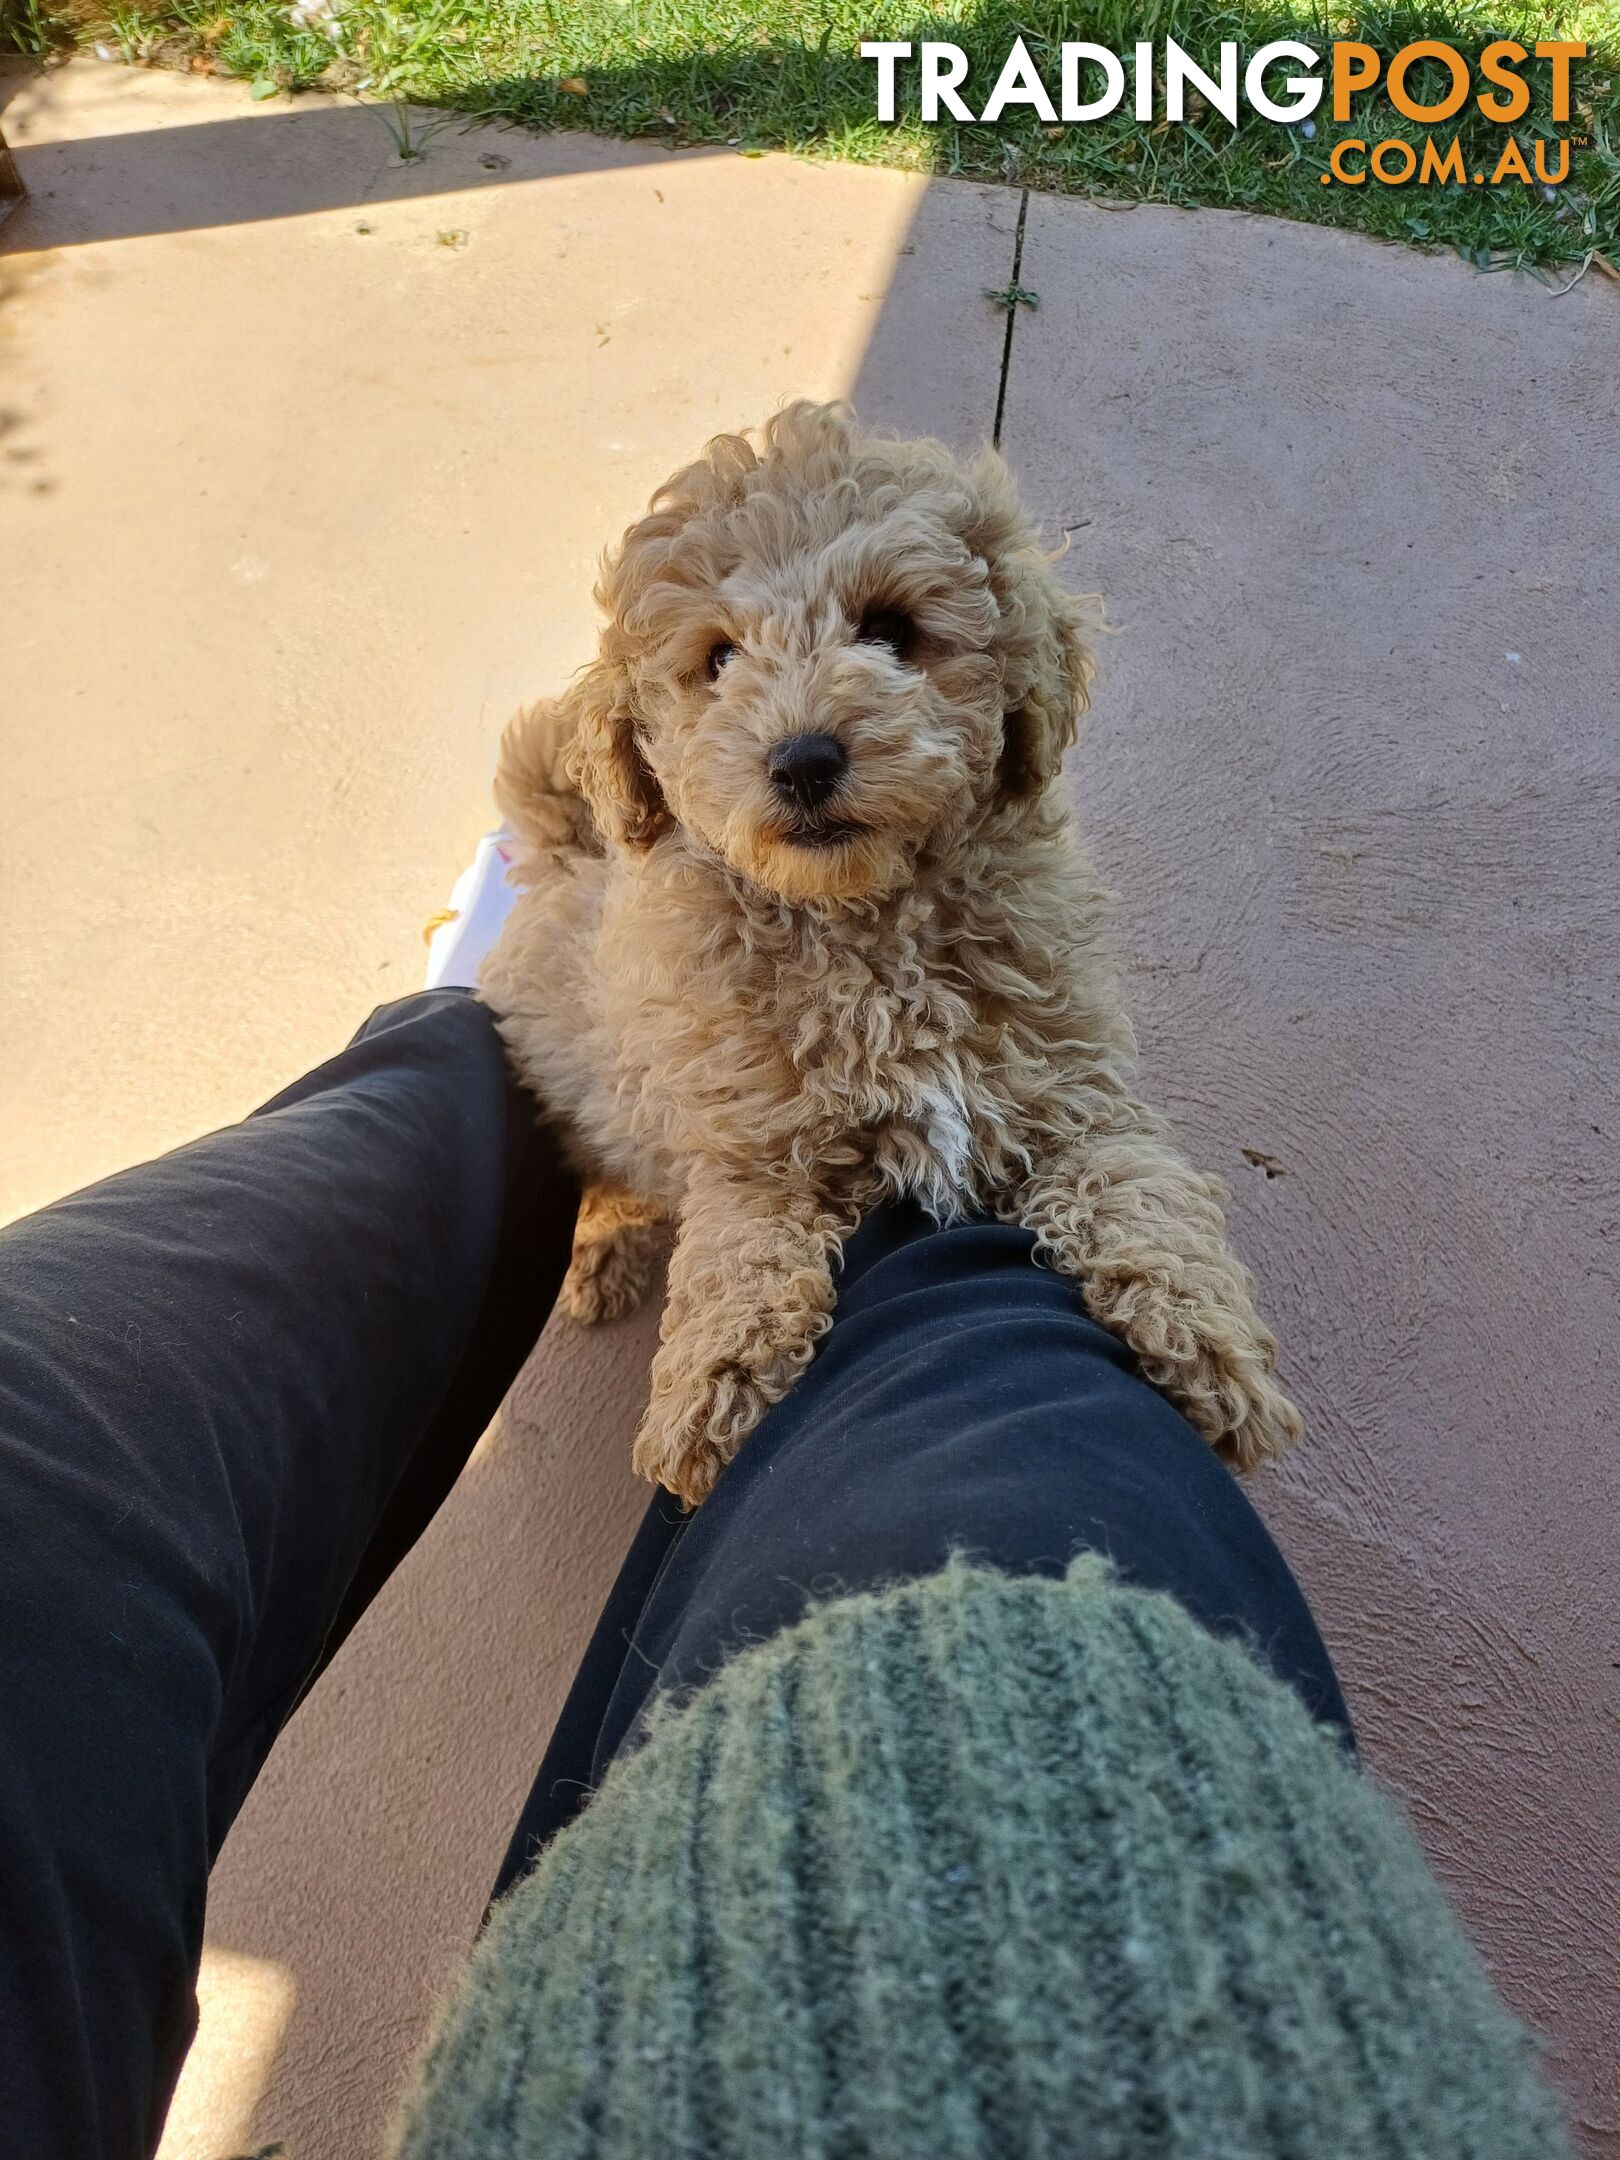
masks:
<path fill-rule="evenodd" d="M 626 1311 L 678 1225 L 637 1467 L 708 1493 L 899 1197 L 1028 1227 L 1233 1464 L 1279 1452 L 1298 1413 L 1220 1188 L 1132 1093 L 1052 784 L 1093 613 L 1002 460 L 795 404 L 676 473 L 598 600 L 598 657 L 503 741 L 529 890 L 482 989 L 588 1184 L 568 1309 Z M 767 778 L 795 732 L 849 756 L 808 827 Z"/>

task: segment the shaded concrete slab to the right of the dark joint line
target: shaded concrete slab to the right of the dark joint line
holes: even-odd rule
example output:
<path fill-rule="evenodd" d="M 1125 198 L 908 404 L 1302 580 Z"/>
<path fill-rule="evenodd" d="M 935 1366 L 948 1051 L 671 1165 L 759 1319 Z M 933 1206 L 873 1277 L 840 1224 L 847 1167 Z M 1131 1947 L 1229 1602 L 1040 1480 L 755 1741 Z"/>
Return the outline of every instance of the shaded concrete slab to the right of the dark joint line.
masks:
<path fill-rule="evenodd" d="M 1620 2149 L 1620 294 L 1032 201 L 1004 447 L 1108 596 L 1080 804 L 1311 1445 L 1257 1486 Z"/>

